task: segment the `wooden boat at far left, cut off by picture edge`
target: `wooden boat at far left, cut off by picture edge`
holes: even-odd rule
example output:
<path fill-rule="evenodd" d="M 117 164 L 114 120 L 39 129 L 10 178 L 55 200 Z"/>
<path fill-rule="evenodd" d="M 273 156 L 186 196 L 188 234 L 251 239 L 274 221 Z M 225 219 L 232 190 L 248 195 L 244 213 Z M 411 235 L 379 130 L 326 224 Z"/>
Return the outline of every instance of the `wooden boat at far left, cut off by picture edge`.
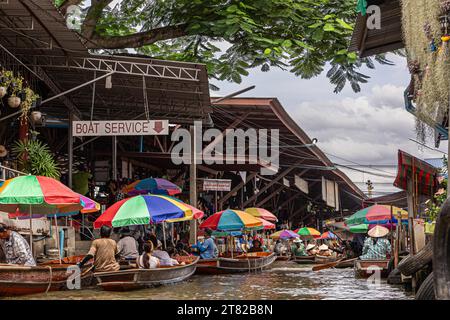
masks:
<path fill-rule="evenodd" d="M 48 291 L 68 290 L 67 280 L 74 276 L 67 268 L 80 262 L 84 256 L 73 256 L 49 261 L 36 267 L 0 265 L 0 296 L 21 296 Z M 81 273 L 81 287 L 91 284 L 92 265 L 85 265 Z"/>

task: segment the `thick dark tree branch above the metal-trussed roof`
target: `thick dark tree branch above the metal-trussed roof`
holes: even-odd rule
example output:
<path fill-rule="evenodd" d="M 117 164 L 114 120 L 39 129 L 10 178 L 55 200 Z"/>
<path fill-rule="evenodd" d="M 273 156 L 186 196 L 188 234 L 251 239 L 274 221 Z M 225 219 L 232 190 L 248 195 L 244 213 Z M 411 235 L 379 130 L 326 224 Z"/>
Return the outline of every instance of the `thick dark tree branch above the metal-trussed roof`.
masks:
<path fill-rule="evenodd" d="M 124 48 L 140 48 L 145 45 L 155 43 L 162 40 L 176 39 L 186 36 L 187 25 L 180 24 L 175 26 L 167 26 L 152 29 L 144 32 L 137 32 L 125 36 L 102 36 L 93 34 L 86 43 L 90 49 L 124 49 Z"/>

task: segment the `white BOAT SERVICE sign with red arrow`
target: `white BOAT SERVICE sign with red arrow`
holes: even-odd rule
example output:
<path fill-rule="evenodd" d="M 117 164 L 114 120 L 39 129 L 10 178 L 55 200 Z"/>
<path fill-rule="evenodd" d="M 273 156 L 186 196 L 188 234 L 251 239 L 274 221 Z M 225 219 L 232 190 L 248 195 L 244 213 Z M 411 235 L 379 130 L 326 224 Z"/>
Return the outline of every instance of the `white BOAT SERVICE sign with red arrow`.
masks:
<path fill-rule="evenodd" d="M 73 121 L 74 137 L 168 135 L 168 120 Z"/>

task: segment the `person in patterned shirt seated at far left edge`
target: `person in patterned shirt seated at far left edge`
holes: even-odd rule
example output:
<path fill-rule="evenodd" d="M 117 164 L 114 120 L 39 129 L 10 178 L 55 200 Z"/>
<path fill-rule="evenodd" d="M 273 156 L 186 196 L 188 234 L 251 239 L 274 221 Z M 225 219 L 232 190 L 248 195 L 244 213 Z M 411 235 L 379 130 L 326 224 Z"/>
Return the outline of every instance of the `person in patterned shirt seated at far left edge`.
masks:
<path fill-rule="evenodd" d="M 19 233 L 0 224 L 0 240 L 6 263 L 23 266 L 36 265 L 30 245 Z"/>

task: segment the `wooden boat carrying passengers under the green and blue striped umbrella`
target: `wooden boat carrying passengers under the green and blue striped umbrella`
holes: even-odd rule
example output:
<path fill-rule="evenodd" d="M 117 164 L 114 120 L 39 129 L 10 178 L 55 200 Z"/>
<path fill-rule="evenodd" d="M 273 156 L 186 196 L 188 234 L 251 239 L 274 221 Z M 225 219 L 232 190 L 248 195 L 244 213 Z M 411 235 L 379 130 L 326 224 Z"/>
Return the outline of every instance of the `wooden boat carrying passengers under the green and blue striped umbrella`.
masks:
<path fill-rule="evenodd" d="M 129 291 L 176 283 L 194 274 L 199 257 L 179 257 L 177 260 L 186 264 L 155 269 L 128 266 L 119 271 L 95 272 L 94 276 L 98 281 L 97 285 L 107 291 Z"/>

